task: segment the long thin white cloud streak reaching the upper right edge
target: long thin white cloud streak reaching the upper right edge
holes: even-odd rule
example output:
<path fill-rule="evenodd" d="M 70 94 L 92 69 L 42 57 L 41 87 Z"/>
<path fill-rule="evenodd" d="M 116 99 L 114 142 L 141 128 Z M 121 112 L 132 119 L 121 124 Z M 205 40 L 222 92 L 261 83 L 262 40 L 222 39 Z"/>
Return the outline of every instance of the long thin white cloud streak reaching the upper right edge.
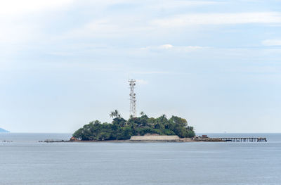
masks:
<path fill-rule="evenodd" d="M 190 13 L 172 18 L 152 20 L 152 24 L 163 27 L 188 25 L 225 25 L 243 23 L 281 23 L 281 13 Z"/>

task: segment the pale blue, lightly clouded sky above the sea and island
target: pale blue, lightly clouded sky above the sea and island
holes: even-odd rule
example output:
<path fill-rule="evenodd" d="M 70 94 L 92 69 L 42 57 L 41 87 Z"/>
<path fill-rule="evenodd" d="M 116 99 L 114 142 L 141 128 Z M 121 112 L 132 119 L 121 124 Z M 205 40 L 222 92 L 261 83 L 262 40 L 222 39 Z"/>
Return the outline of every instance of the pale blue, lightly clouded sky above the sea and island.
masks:
<path fill-rule="evenodd" d="M 72 133 L 110 111 L 281 132 L 280 0 L 0 1 L 0 127 Z"/>

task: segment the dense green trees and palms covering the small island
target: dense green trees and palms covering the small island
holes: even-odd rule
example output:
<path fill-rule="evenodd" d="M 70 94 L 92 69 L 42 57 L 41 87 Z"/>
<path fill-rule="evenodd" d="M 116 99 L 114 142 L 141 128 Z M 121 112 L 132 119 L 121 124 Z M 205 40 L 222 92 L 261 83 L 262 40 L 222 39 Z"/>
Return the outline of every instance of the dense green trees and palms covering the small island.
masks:
<path fill-rule="evenodd" d="M 141 117 L 130 117 L 124 120 L 118 110 L 112 111 L 110 117 L 112 123 L 101 123 L 98 120 L 84 125 L 73 136 L 84 141 L 104 141 L 130 139 L 131 136 L 143 136 L 145 134 L 178 135 L 179 137 L 193 137 L 193 127 L 181 118 L 172 116 L 167 119 L 166 115 L 160 117 L 148 117 L 141 112 Z"/>

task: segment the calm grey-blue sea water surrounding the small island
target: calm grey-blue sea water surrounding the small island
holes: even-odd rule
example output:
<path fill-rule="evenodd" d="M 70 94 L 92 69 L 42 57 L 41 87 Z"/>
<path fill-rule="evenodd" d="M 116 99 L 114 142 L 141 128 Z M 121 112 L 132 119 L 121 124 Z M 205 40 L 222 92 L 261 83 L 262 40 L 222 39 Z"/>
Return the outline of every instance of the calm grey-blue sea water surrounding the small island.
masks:
<path fill-rule="evenodd" d="M 281 134 L 208 135 L 268 142 L 39 143 L 71 134 L 0 134 L 0 184 L 281 184 Z"/>

